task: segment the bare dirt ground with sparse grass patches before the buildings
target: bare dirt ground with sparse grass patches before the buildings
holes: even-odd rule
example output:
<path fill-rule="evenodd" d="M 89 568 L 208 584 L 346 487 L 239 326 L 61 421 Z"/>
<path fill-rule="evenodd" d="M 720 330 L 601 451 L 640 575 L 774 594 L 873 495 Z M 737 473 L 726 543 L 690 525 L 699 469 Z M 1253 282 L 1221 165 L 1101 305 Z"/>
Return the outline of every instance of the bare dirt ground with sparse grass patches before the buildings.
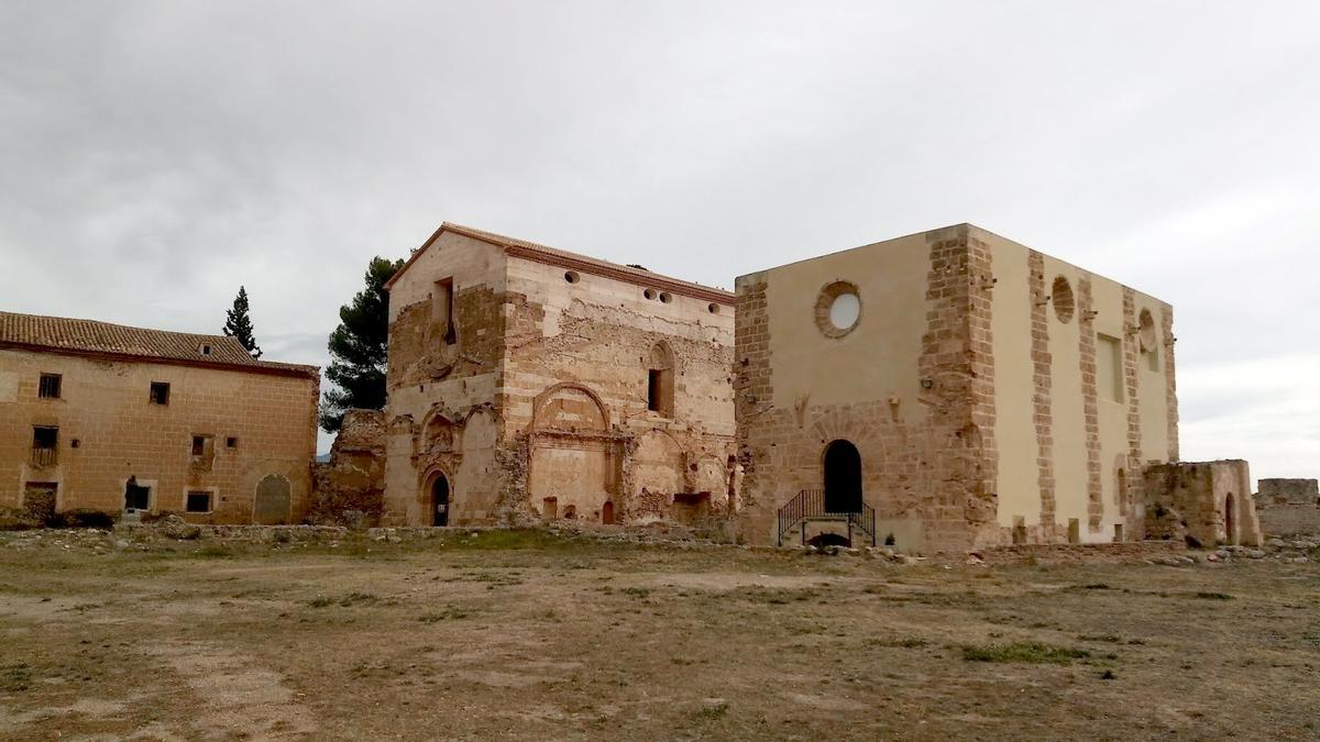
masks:
<path fill-rule="evenodd" d="M 32 541 L 5 739 L 1320 738 L 1316 560 Z"/>

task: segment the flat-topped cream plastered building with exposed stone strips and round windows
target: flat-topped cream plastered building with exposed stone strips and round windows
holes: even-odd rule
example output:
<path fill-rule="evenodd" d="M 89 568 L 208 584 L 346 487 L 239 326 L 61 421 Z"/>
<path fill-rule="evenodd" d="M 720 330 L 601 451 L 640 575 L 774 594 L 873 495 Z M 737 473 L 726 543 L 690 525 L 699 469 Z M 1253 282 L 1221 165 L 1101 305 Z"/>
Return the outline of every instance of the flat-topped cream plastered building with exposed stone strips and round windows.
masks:
<path fill-rule="evenodd" d="M 1144 535 L 1142 471 L 1177 455 L 1167 304 L 970 224 L 750 273 L 737 296 L 752 540 L 829 499 L 834 446 L 900 548 Z"/>

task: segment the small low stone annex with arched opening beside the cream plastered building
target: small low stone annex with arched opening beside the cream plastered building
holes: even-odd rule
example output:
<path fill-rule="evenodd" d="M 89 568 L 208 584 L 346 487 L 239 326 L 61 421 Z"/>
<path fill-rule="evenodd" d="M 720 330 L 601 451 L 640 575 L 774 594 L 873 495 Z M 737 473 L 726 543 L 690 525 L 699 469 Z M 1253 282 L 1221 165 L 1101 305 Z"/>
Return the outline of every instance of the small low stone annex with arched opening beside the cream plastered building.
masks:
<path fill-rule="evenodd" d="M 1144 471 L 1142 514 L 1147 539 L 1191 545 L 1263 543 L 1251 492 L 1251 474 L 1241 459 L 1171 462 Z"/>

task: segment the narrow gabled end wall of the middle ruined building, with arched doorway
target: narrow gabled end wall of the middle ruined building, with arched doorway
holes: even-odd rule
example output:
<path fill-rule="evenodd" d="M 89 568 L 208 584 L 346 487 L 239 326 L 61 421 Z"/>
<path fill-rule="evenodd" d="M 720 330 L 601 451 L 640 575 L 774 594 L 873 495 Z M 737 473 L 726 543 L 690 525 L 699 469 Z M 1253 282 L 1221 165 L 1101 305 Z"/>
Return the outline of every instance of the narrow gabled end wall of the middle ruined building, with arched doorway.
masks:
<path fill-rule="evenodd" d="M 441 234 L 389 288 L 383 524 L 433 524 L 445 491 L 449 523 L 498 516 L 504 271 L 499 248 Z"/>

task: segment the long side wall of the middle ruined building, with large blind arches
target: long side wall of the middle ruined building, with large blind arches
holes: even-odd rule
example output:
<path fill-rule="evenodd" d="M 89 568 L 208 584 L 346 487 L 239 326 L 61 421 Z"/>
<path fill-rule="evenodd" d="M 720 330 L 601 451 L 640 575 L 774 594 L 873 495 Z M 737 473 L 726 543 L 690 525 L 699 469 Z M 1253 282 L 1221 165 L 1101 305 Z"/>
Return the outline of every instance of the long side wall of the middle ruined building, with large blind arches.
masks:
<path fill-rule="evenodd" d="M 508 281 L 511 516 L 572 507 L 597 522 L 723 520 L 737 507 L 729 300 L 523 259 L 511 259 Z M 652 368 L 672 409 L 648 409 Z"/>

